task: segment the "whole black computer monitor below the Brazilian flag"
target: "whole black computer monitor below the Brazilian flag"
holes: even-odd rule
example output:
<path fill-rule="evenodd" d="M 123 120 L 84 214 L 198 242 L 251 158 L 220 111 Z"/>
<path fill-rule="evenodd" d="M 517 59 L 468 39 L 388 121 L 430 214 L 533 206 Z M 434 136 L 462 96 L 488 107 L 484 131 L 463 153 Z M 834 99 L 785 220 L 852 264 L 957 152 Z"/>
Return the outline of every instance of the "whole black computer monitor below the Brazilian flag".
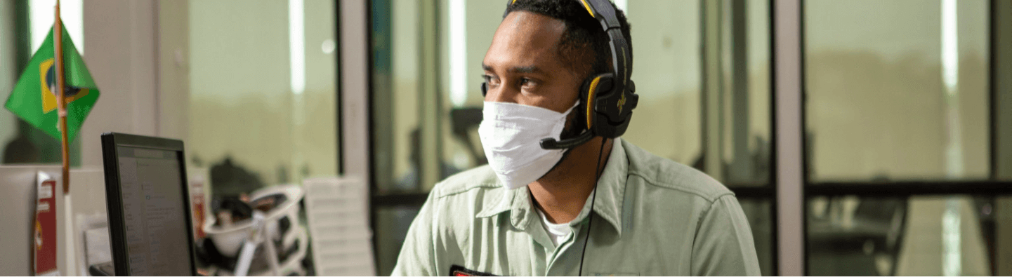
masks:
<path fill-rule="evenodd" d="M 195 276 L 183 142 L 102 134 L 115 276 Z"/>

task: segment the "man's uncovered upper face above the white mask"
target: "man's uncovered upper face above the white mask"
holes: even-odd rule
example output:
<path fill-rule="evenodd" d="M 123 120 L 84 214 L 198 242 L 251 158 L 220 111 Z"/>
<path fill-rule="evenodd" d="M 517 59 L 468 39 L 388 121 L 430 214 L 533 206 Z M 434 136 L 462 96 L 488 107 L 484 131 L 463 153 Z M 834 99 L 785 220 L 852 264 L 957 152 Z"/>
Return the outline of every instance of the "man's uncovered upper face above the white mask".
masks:
<path fill-rule="evenodd" d="M 583 80 L 562 63 L 559 41 L 566 24 L 544 15 L 511 12 L 496 29 L 482 66 L 485 101 L 510 102 L 566 112 Z"/>

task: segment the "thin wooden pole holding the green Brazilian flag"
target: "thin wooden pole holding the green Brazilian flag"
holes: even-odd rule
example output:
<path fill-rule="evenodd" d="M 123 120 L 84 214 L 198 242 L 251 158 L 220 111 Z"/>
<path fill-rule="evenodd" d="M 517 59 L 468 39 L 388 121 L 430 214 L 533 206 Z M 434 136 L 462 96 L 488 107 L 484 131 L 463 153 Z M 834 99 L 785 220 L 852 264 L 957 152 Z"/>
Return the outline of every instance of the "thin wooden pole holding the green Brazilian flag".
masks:
<path fill-rule="evenodd" d="M 70 194 L 70 150 L 67 147 L 67 102 L 64 101 L 64 94 L 67 93 L 64 83 L 64 61 L 63 61 L 63 22 L 60 20 L 60 0 L 57 0 L 56 23 L 53 24 L 53 42 L 56 55 L 56 79 L 57 79 L 57 106 L 60 107 L 60 146 L 63 154 L 63 184 L 64 195 Z"/>

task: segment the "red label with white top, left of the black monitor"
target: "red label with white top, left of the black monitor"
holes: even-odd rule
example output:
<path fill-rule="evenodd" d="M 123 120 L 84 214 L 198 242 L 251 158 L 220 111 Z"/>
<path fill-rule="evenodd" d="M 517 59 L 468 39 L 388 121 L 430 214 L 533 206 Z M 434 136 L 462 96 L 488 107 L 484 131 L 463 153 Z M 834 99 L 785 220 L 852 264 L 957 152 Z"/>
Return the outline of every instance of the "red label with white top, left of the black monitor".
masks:
<path fill-rule="evenodd" d="M 38 178 L 38 201 L 35 205 L 35 224 L 32 236 L 32 251 L 35 253 L 35 275 L 57 271 L 57 182 Z"/>

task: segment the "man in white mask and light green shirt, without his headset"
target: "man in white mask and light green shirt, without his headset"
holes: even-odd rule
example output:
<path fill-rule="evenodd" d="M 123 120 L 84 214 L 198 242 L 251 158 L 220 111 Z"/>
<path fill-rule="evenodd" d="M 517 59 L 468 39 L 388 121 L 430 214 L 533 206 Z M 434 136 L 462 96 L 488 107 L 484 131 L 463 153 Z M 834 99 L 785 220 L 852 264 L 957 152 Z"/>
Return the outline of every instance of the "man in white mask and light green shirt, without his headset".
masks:
<path fill-rule="evenodd" d="M 620 138 L 537 146 L 586 131 L 572 111 L 612 71 L 608 42 L 580 1 L 509 4 L 483 61 L 490 166 L 432 189 L 395 276 L 759 275 L 741 206 L 705 174 Z"/>

